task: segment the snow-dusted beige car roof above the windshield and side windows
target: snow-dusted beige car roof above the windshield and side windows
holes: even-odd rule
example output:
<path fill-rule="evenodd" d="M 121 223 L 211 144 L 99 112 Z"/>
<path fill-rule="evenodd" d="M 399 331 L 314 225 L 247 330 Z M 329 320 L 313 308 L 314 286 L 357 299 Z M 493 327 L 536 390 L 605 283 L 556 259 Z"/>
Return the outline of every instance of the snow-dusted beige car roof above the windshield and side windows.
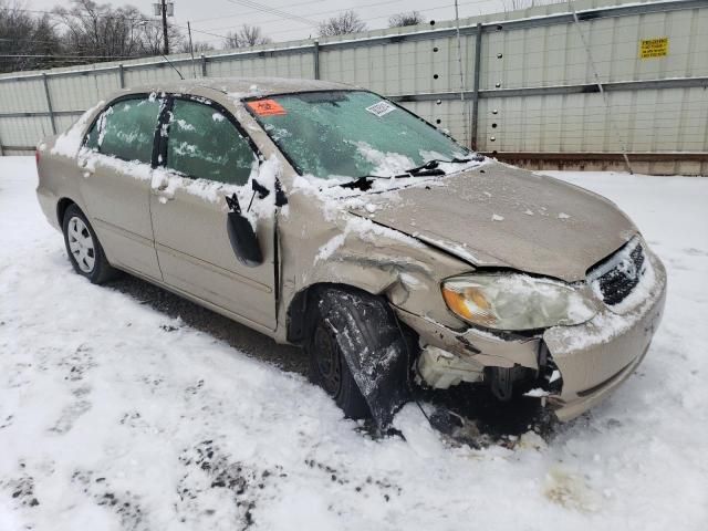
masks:
<path fill-rule="evenodd" d="M 288 94 L 313 91 L 350 91 L 355 87 L 331 81 L 302 80 L 292 77 L 201 77 L 197 80 L 179 80 L 136 85 L 126 92 L 164 91 L 189 94 L 199 88 L 211 88 L 229 94 L 238 100 L 272 94 Z"/>

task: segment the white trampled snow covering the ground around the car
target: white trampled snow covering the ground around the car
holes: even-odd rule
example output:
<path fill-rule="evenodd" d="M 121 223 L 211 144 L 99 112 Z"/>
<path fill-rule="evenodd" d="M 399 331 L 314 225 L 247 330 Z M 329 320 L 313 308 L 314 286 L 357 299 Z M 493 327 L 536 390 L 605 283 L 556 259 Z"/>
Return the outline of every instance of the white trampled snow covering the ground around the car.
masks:
<path fill-rule="evenodd" d="M 546 440 L 374 440 L 302 376 L 74 274 L 0 158 L 0 530 L 708 529 L 708 180 L 558 174 L 664 259 L 645 363 Z"/>

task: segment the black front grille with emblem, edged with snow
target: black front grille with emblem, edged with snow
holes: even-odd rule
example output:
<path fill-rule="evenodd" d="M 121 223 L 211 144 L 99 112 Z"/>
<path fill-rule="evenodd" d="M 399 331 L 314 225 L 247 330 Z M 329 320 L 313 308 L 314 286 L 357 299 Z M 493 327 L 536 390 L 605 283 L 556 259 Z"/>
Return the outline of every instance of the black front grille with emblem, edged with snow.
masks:
<path fill-rule="evenodd" d="M 620 304 L 632 293 L 646 271 L 644 261 L 644 249 L 635 238 L 594 268 L 590 277 L 605 304 Z"/>

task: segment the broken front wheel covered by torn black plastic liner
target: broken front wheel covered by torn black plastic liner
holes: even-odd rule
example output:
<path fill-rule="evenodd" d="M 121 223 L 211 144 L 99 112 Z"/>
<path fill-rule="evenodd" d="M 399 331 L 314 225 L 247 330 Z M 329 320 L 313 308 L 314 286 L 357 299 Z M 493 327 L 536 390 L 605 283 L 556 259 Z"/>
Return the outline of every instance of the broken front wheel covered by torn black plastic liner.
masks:
<path fill-rule="evenodd" d="M 385 300 L 347 288 L 317 289 L 309 302 L 305 351 L 310 378 L 346 417 L 387 426 L 406 402 L 408 350 Z"/>

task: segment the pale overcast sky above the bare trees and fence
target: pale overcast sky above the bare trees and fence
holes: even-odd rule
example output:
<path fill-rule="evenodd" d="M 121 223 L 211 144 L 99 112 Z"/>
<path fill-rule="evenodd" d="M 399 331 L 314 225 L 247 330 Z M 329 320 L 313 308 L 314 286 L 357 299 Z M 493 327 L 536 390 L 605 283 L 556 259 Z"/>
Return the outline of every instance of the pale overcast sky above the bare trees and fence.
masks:
<path fill-rule="evenodd" d="M 144 13 L 153 13 L 153 3 L 157 0 L 112 1 L 98 3 L 112 3 L 113 6 L 132 4 Z M 258 0 L 261 6 L 278 9 L 287 14 L 284 17 L 258 11 L 246 7 L 251 3 L 248 0 L 174 0 L 175 23 L 186 25 L 191 21 L 194 39 L 196 41 L 209 41 L 217 48 L 221 48 L 222 40 L 216 35 L 223 35 L 229 30 L 238 29 L 243 23 L 260 25 L 266 35 L 273 41 L 288 41 L 316 37 L 316 22 L 326 20 L 336 13 L 353 9 L 366 22 L 369 29 L 385 28 L 388 17 L 403 11 L 417 10 L 425 20 L 449 20 L 455 18 L 454 0 Z M 460 17 L 471 17 L 480 13 L 502 11 L 504 3 L 511 4 L 511 0 L 459 0 Z M 529 0 L 530 3 L 531 0 Z M 50 10 L 55 6 L 70 7 L 67 0 L 24 0 L 27 9 Z M 200 31 L 212 33 L 200 33 Z"/>

